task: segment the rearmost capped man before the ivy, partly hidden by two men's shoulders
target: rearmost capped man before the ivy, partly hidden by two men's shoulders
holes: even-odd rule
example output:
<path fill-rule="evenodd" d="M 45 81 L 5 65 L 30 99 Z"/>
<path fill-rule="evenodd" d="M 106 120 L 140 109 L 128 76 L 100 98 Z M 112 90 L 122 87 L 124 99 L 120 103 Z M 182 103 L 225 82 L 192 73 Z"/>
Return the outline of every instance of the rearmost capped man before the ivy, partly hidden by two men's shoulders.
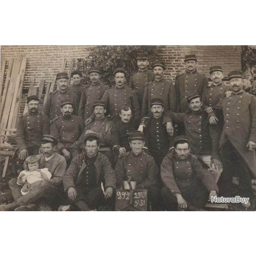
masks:
<path fill-rule="evenodd" d="M 142 108 L 142 101 L 143 101 L 143 95 L 145 86 L 147 83 L 154 80 L 154 74 L 153 72 L 148 70 L 148 53 L 141 52 L 137 56 L 137 65 L 139 67 L 139 70 L 137 73 L 131 76 L 129 87 L 133 90 L 135 90 L 138 101 L 140 104 L 140 109 Z"/>

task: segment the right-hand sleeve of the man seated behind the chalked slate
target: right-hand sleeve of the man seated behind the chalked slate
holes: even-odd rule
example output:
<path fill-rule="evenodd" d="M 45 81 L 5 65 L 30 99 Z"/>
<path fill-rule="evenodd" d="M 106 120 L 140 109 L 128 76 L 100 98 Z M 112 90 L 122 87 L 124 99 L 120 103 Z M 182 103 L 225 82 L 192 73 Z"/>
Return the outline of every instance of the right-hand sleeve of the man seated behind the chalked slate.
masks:
<path fill-rule="evenodd" d="M 147 159 L 147 170 L 147 177 L 142 183 L 136 186 L 136 189 L 148 189 L 157 183 L 158 167 L 154 158 L 151 156 L 148 156 Z"/>

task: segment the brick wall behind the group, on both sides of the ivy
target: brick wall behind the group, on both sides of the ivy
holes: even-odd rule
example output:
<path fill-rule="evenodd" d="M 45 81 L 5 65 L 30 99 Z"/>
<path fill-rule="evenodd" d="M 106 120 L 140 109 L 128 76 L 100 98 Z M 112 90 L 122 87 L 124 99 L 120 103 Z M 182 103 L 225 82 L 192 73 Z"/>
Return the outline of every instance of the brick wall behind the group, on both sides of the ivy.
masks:
<path fill-rule="evenodd" d="M 72 58 L 75 58 L 73 70 L 76 69 L 78 58 L 87 58 L 88 46 L 2 46 L 1 58 L 6 58 L 6 72 L 8 59 L 19 55 L 27 57 L 26 72 L 23 84 L 23 97 L 21 111 L 24 108 L 26 93 L 32 77 L 35 85 L 39 85 L 41 79 L 52 81 L 53 75 L 61 69 L 62 59 L 66 58 L 65 71 L 68 72 Z M 195 53 L 198 56 L 198 71 L 209 77 L 209 67 L 221 65 L 225 76 L 235 69 L 241 69 L 240 46 L 159 46 L 162 49 L 160 58 L 166 64 L 165 77 L 169 81 L 175 81 L 175 77 L 184 72 L 184 56 Z M 5 77 L 4 77 L 5 79 Z"/>

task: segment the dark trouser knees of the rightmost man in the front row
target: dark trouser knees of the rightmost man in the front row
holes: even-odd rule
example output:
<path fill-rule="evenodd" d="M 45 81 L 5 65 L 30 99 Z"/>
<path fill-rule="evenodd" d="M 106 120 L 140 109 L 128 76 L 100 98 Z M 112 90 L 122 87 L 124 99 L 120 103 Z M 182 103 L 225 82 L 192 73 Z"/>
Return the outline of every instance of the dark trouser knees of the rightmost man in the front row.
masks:
<path fill-rule="evenodd" d="M 177 211 L 178 202 L 176 196 L 165 186 L 161 189 L 161 194 L 163 196 L 166 209 L 170 211 Z M 198 186 L 196 189 L 184 192 L 181 195 L 186 200 L 188 207 L 191 205 L 203 208 L 207 204 L 209 198 L 209 193 L 204 186 Z"/>

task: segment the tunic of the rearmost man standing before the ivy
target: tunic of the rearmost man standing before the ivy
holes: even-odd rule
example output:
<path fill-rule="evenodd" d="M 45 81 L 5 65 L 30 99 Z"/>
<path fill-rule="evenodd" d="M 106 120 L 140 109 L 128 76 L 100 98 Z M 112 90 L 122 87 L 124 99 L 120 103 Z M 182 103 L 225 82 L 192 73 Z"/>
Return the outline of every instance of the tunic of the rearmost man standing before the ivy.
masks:
<path fill-rule="evenodd" d="M 147 83 L 153 80 L 154 80 L 154 74 L 148 69 L 145 69 L 145 70 L 139 69 L 137 73 L 131 76 L 129 87 L 135 90 L 138 97 L 139 104 L 140 104 L 140 109 L 142 108 L 145 86 Z"/>

